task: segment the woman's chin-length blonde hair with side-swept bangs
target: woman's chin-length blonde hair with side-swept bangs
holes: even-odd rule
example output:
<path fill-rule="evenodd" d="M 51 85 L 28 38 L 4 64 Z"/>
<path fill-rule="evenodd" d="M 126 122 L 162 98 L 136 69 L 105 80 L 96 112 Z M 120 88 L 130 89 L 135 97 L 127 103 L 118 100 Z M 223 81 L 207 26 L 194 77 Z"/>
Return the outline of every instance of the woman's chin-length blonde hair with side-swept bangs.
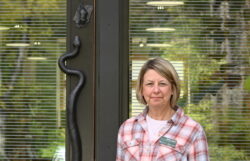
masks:
<path fill-rule="evenodd" d="M 180 97 L 179 76 L 175 68 L 173 67 L 173 65 L 169 61 L 160 57 L 150 59 L 142 66 L 139 76 L 138 76 L 137 85 L 136 85 L 137 100 L 144 105 L 147 104 L 144 97 L 142 96 L 142 88 L 143 88 L 142 85 L 143 85 L 144 75 L 149 69 L 155 70 L 157 73 L 159 73 L 161 76 L 166 78 L 171 83 L 173 95 L 170 98 L 170 106 L 173 109 L 176 109 L 177 101 Z"/>

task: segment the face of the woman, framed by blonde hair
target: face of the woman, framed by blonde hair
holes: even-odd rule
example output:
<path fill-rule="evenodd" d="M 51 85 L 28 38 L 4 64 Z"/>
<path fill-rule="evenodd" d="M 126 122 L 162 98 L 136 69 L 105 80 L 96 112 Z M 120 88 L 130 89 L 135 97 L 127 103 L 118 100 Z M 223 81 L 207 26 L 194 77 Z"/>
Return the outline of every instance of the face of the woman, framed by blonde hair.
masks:
<path fill-rule="evenodd" d="M 155 70 L 144 74 L 142 96 L 149 107 L 170 107 L 172 93 L 170 82 Z"/>

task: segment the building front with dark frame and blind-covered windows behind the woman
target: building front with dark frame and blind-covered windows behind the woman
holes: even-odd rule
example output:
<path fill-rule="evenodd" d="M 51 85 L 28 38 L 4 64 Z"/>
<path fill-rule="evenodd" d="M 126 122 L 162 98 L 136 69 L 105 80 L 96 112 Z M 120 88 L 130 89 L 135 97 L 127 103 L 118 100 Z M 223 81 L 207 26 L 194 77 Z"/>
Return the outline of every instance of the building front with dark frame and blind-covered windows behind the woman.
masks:
<path fill-rule="evenodd" d="M 75 36 L 66 66 L 84 74 L 82 160 L 115 160 L 120 124 L 144 109 L 135 84 L 153 57 L 177 69 L 179 105 L 204 127 L 211 160 L 250 160 L 249 11 L 247 0 L 2 0 L 0 160 L 75 155 L 66 108 L 79 78 L 58 67 Z"/>

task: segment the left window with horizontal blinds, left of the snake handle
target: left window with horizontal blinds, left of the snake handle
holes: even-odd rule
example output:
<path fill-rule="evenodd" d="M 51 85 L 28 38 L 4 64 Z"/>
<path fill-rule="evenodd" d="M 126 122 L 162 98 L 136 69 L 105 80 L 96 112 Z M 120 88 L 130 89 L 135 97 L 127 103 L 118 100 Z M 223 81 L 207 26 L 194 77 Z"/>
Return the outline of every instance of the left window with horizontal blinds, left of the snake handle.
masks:
<path fill-rule="evenodd" d="M 64 159 L 66 0 L 0 2 L 0 160 Z"/>

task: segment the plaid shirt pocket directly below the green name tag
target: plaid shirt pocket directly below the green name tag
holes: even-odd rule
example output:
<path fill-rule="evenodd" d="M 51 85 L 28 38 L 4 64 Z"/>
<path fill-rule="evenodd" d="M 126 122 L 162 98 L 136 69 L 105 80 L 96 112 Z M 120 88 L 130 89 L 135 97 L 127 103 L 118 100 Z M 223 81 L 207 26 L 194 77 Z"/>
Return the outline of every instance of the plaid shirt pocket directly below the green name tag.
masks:
<path fill-rule="evenodd" d="M 164 144 L 160 144 L 156 161 L 180 161 L 184 154 L 184 146 L 176 145 L 176 147 L 170 147 Z"/>

